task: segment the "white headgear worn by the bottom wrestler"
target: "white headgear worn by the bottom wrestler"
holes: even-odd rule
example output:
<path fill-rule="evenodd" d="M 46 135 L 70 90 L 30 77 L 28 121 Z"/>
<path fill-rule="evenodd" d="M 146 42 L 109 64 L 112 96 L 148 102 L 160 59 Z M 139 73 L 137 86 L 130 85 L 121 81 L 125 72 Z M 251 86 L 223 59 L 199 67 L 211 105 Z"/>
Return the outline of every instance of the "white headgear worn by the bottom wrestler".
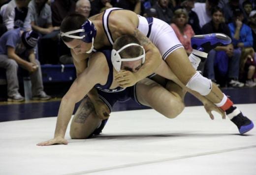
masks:
<path fill-rule="evenodd" d="M 135 58 L 121 58 L 119 53 L 121 51 L 123 51 L 125 48 L 130 47 L 130 46 L 139 46 L 139 47 L 141 47 L 143 49 L 143 54 L 141 56 L 135 57 Z M 142 59 L 142 64 L 145 62 L 145 49 L 141 45 L 136 44 L 136 43 L 127 44 L 127 45 L 123 46 L 121 49 L 119 49 L 118 51 L 116 51 L 115 49 L 113 49 L 111 51 L 111 61 L 112 61 L 113 67 L 118 72 L 121 70 L 122 61 L 135 61 L 135 60 L 138 60 L 138 59 Z"/>

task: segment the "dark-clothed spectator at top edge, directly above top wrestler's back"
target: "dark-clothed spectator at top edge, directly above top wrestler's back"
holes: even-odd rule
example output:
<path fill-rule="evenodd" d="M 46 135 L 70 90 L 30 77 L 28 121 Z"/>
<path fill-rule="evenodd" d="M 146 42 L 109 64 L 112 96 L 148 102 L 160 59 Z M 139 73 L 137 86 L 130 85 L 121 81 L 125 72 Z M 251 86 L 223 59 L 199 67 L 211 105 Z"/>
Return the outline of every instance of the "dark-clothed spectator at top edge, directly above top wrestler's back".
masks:
<path fill-rule="evenodd" d="M 133 11 L 137 14 L 141 12 L 141 1 L 140 0 L 119 0 L 115 7 L 124 8 Z"/>

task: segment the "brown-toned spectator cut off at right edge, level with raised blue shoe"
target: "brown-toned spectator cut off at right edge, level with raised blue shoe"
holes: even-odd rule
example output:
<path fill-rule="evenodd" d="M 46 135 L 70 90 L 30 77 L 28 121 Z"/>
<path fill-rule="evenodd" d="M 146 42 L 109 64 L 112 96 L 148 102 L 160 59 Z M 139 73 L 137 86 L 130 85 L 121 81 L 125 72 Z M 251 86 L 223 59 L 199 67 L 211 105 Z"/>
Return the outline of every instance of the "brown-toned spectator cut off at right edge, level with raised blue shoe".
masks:
<path fill-rule="evenodd" d="M 255 59 L 255 51 L 252 47 L 243 49 L 240 61 L 240 75 L 247 87 L 256 86 L 256 82 L 254 81 L 256 67 Z"/>

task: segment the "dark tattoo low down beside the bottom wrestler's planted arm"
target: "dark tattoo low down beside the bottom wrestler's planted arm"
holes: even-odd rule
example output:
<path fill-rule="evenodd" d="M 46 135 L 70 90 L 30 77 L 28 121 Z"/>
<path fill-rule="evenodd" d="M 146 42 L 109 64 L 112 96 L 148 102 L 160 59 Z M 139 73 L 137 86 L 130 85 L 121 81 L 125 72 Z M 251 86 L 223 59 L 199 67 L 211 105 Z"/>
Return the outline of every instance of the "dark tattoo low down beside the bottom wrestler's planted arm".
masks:
<path fill-rule="evenodd" d="M 90 101 L 85 102 L 79 114 L 75 118 L 76 123 L 85 123 L 86 119 L 95 112 L 94 104 Z"/>

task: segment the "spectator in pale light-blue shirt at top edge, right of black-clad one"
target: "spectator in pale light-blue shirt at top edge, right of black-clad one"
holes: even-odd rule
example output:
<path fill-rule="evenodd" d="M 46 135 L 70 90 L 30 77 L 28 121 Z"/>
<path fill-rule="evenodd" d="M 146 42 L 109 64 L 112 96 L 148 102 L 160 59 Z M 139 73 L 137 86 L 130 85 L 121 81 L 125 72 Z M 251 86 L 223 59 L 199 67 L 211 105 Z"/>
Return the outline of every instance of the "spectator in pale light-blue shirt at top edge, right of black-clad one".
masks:
<path fill-rule="evenodd" d="M 218 5 L 219 0 L 206 0 L 205 3 L 196 2 L 192 10 L 197 14 L 199 18 L 200 28 L 206 23 L 211 21 L 211 10 Z"/>

